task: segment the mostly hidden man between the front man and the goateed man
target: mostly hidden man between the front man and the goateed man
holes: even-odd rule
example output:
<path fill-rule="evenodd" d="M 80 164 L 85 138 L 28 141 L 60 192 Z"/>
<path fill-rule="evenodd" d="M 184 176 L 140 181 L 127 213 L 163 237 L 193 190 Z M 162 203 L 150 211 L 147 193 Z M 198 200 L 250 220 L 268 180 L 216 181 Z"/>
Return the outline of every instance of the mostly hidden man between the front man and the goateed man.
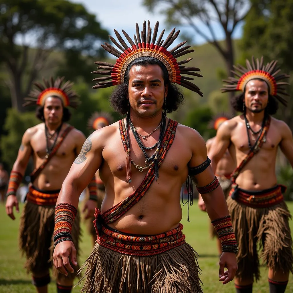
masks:
<path fill-rule="evenodd" d="M 222 125 L 222 123 L 224 121 L 229 120 L 231 118 L 232 118 L 232 116 L 227 113 L 220 113 L 220 114 L 214 115 L 212 120 L 209 122 L 208 126 L 209 126 L 209 128 L 217 131 L 218 128 Z M 206 142 L 208 156 L 209 156 L 209 151 L 210 151 L 214 141 L 215 141 L 215 137 L 212 137 L 212 138 L 208 139 Z M 235 167 L 236 167 L 236 164 L 235 164 L 233 158 L 231 157 L 229 151 L 227 150 L 224 153 L 221 160 L 218 162 L 217 170 L 216 170 L 216 176 L 217 176 L 217 178 L 220 182 L 220 185 L 224 191 L 225 198 L 227 198 L 229 195 L 229 191 L 231 188 L 231 180 L 230 180 L 231 173 L 233 172 Z M 202 196 L 200 194 L 198 195 L 197 205 L 203 212 L 207 211 L 205 208 L 205 202 L 203 201 Z M 212 238 L 217 237 L 217 247 L 218 247 L 219 255 L 221 255 L 222 254 L 222 245 L 219 240 L 217 231 L 214 229 L 213 225 L 210 225 L 210 234 L 211 234 Z"/>

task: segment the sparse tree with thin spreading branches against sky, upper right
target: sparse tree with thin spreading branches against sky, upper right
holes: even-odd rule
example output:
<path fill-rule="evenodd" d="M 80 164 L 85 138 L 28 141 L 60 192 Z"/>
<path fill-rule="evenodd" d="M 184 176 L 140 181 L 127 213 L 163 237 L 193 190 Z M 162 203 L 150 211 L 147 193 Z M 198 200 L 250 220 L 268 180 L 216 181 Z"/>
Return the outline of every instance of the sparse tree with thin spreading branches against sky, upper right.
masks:
<path fill-rule="evenodd" d="M 227 75 L 232 76 L 234 48 L 232 35 L 236 26 L 249 11 L 247 0 L 144 0 L 150 11 L 158 3 L 166 4 L 162 12 L 171 25 L 190 26 L 197 35 L 212 44 L 226 64 Z M 217 40 L 213 25 L 220 25 L 225 35 L 225 45 Z M 209 33 L 206 33 L 208 31 Z"/>

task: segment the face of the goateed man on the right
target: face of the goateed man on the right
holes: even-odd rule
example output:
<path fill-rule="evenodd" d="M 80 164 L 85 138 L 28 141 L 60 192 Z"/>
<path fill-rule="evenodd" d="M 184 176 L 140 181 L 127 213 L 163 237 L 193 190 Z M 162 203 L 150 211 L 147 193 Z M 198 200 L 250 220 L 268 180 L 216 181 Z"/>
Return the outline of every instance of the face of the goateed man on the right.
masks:
<path fill-rule="evenodd" d="M 244 102 L 253 113 L 262 112 L 268 105 L 269 88 L 265 81 L 252 79 L 245 86 Z"/>

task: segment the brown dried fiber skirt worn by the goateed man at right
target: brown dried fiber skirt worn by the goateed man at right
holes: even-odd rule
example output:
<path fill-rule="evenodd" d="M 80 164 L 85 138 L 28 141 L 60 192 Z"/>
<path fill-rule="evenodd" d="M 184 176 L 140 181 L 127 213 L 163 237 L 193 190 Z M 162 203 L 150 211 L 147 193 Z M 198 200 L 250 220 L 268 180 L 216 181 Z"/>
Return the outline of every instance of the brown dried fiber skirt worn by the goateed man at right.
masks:
<path fill-rule="evenodd" d="M 231 196 L 227 199 L 233 229 L 238 243 L 240 279 L 259 280 L 259 258 L 273 271 L 293 273 L 292 237 L 289 227 L 290 212 L 286 203 L 271 207 L 248 207 Z"/>

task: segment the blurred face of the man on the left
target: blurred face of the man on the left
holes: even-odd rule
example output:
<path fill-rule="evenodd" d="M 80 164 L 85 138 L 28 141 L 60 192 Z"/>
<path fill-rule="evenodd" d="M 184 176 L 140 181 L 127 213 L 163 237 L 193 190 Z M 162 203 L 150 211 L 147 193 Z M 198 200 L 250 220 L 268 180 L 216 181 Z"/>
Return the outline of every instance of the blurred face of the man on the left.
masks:
<path fill-rule="evenodd" d="M 59 124 L 62 121 L 63 105 L 59 98 L 49 97 L 44 104 L 44 119 L 49 124 Z"/>

